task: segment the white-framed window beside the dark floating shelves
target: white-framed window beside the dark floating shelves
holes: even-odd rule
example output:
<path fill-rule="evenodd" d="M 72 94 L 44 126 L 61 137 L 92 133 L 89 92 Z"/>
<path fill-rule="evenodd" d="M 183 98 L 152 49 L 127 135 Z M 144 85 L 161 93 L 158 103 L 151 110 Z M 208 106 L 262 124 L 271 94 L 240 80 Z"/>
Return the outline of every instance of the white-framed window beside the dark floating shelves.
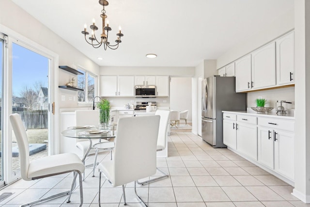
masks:
<path fill-rule="evenodd" d="M 78 88 L 84 90 L 78 91 L 78 102 L 91 103 L 96 91 L 96 76 L 86 70 L 78 69 L 78 71 L 84 73 L 84 75 L 78 75 Z"/>

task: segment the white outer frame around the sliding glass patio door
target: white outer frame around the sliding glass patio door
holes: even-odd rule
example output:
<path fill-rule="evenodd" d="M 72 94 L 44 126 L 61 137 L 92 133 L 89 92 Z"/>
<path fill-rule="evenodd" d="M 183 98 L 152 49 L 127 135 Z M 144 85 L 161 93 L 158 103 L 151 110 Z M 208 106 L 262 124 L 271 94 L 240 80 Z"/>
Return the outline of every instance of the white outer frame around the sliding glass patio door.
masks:
<path fill-rule="evenodd" d="M 58 154 L 59 153 L 59 138 L 54 139 L 55 132 L 58 131 L 58 115 L 55 113 L 55 107 L 54 107 L 54 114 L 52 113 L 52 103 L 57 103 L 58 100 L 58 60 L 59 56 L 58 54 L 50 51 L 47 48 L 44 48 L 43 46 L 33 42 L 32 40 L 22 36 L 21 34 L 12 31 L 9 28 L 6 28 L 3 25 L 0 25 L 1 30 L 0 32 L 3 32 L 7 35 L 7 49 L 6 49 L 6 66 L 4 67 L 3 72 L 3 115 L 2 115 L 2 121 L 3 121 L 3 128 L 5 130 L 3 133 L 4 137 L 8 137 L 9 139 L 6 139 L 4 142 L 4 149 L 6 149 L 5 152 L 3 152 L 4 156 L 7 158 L 4 161 L 4 167 L 3 167 L 3 180 L 6 184 L 14 182 L 16 179 L 20 177 L 20 175 L 12 175 L 12 127 L 9 121 L 9 115 L 12 113 L 12 44 L 15 43 L 21 47 L 30 49 L 33 52 L 36 52 L 50 60 L 50 68 L 48 72 L 48 94 L 49 94 L 49 110 L 48 110 L 48 155 Z M 58 110 L 57 110 L 58 111 Z"/>

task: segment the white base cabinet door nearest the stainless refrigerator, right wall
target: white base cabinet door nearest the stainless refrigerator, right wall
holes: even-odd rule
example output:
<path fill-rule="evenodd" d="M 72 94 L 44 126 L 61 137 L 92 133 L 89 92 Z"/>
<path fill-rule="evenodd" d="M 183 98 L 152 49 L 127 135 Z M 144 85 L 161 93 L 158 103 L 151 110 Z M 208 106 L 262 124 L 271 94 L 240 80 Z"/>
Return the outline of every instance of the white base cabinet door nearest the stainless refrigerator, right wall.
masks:
<path fill-rule="evenodd" d="M 233 149 L 237 149 L 237 131 L 235 121 L 226 119 L 223 120 L 223 143 Z"/>

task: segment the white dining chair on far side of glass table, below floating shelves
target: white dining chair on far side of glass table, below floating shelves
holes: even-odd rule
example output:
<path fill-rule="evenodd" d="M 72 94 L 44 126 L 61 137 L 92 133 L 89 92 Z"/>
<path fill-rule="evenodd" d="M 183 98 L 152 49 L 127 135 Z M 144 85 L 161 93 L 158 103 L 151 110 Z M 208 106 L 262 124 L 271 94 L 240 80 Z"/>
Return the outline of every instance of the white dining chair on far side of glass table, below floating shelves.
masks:
<path fill-rule="evenodd" d="M 84 126 L 84 125 L 89 125 L 89 126 L 99 126 L 99 110 L 76 110 L 75 111 L 76 115 L 76 126 Z M 76 139 L 76 146 L 78 149 L 81 150 L 82 155 L 85 155 L 87 152 L 90 142 L 88 139 Z M 96 146 L 96 149 L 92 147 L 92 149 L 89 151 L 88 155 L 95 154 L 93 164 L 86 165 L 86 167 L 91 167 L 93 166 L 93 176 L 94 176 L 94 171 L 95 167 L 97 164 L 97 154 L 99 152 L 98 149 L 100 147 L 98 146 L 98 143 L 105 143 L 109 142 L 108 140 L 104 139 L 92 139 L 93 145 Z M 100 151 L 107 151 L 107 150 L 100 150 Z M 110 157 L 112 156 L 111 150 L 110 151 Z M 85 164 L 85 163 L 84 163 Z M 83 174 L 83 180 L 85 179 L 85 173 Z"/>

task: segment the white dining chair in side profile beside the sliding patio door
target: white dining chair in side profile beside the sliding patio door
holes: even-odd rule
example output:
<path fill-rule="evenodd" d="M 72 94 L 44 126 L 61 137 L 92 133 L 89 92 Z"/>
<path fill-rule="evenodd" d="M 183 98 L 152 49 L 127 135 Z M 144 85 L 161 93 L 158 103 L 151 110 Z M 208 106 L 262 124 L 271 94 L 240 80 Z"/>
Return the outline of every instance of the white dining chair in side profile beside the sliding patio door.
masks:
<path fill-rule="evenodd" d="M 85 166 L 81 161 L 81 159 L 78 157 L 78 155 L 74 153 L 64 153 L 35 159 L 30 162 L 28 137 L 19 114 L 17 113 L 11 114 L 10 121 L 18 145 L 21 178 L 23 180 L 36 180 L 44 177 L 60 175 L 70 172 L 77 173 L 79 176 L 79 190 L 80 190 L 79 207 L 81 207 L 83 205 L 82 173 L 85 170 Z M 47 201 L 67 194 L 69 194 L 67 200 L 67 203 L 69 203 L 71 193 L 75 187 L 76 177 L 77 176 L 74 176 L 70 191 L 64 191 L 46 198 L 41 198 L 39 200 L 23 204 L 20 207 L 31 206 L 33 204 Z"/>

